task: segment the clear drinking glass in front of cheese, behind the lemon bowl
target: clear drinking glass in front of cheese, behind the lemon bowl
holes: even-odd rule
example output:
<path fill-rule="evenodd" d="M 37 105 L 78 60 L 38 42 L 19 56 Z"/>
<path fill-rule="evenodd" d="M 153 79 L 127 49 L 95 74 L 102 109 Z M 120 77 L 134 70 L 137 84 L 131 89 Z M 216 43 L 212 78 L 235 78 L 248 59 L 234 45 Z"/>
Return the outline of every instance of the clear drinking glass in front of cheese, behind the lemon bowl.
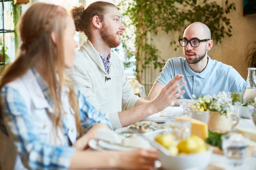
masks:
<path fill-rule="evenodd" d="M 177 120 L 177 117 L 183 117 L 184 119 Z M 179 139 L 186 139 L 191 134 L 191 113 L 180 112 L 175 114 L 167 114 L 166 126 L 177 132 L 176 136 L 178 136 Z"/>

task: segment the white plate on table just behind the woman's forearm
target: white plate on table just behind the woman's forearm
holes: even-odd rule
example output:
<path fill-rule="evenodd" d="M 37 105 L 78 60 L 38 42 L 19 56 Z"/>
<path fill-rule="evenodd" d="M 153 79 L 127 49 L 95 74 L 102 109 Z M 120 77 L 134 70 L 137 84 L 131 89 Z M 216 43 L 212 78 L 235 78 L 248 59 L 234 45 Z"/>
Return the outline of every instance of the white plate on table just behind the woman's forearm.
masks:
<path fill-rule="evenodd" d="M 102 140 L 95 140 L 95 139 L 90 139 L 88 142 L 88 145 L 90 148 L 94 150 L 132 150 L 134 148 L 131 147 L 122 147 L 116 144 L 110 144 L 108 142 L 104 142 Z"/>

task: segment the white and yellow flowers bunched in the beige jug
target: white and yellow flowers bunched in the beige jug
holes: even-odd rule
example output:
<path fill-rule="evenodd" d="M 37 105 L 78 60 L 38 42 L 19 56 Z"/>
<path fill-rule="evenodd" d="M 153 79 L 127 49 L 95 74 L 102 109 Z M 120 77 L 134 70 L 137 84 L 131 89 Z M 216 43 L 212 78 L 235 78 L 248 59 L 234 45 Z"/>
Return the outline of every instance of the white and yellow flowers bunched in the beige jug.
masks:
<path fill-rule="evenodd" d="M 195 98 L 195 96 L 192 96 Z M 219 92 L 217 95 L 206 95 L 197 97 L 198 102 L 191 106 L 191 111 L 217 111 L 221 115 L 233 110 L 233 99 L 226 92 Z"/>

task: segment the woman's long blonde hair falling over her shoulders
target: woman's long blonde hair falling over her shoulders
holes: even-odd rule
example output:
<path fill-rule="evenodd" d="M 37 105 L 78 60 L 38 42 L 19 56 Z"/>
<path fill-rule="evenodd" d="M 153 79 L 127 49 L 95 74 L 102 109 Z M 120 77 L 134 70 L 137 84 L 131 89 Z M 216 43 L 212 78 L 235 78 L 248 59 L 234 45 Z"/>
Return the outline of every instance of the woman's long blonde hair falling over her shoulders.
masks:
<path fill-rule="evenodd" d="M 62 86 L 70 89 L 69 102 L 75 111 L 76 127 L 81 131 L 78 99 L 73 85 L 64 73 L 64 28 L 68 13 L 61 6 L 47 3 L 35 3 L 23 14 L 19 23 L 21 38 L 20 52 L 17 59 L 6 67 L 0 79 L 0 89 L 9 82 L 22 77 L 31 68 L 38 65 L 43 59 L 46 63 L 45 73 L 51 99 L 54 104 L 54 126 L 60 125 L 61 113 L 64 113 L 61 102 Z M 56 43 L 51 34 L 56 34 Z M 58 75 L 58 79 L 56 74 Z M 1 113 L 0 113 L 1 114 Z"/>

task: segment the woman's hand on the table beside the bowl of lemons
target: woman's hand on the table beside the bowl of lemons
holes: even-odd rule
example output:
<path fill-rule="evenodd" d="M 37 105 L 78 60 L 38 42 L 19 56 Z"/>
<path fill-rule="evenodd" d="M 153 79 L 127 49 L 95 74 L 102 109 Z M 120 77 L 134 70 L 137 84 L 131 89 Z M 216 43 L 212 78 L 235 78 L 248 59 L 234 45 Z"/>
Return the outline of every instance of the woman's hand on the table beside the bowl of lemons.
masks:
<path fill-rule="evenodd" d="M 155 149 L 121 151 L 118 153 L 116 167 L 123 170 L 151 170 L 156 160 L 158 154 Z"/>

